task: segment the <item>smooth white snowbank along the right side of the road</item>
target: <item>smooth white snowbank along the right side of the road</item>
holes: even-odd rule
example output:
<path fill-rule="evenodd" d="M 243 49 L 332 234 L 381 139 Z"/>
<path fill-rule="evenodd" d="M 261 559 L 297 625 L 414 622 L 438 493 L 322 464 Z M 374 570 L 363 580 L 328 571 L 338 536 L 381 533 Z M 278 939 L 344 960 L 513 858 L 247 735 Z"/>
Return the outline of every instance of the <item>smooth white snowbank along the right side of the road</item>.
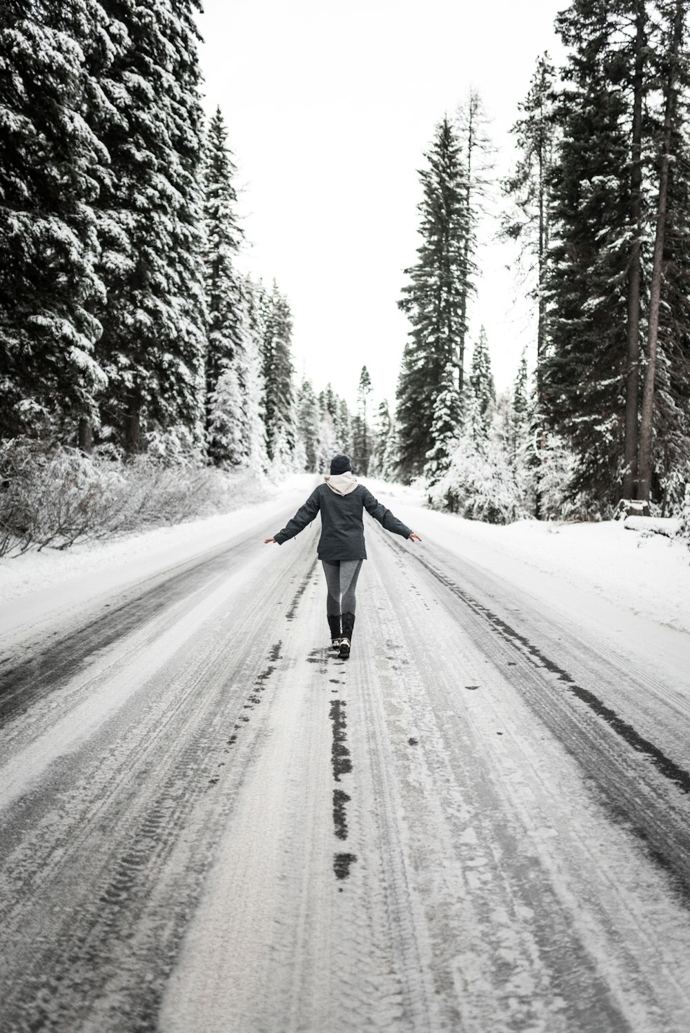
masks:
<path fill-rule="evenodd" d="M 481 524 L 427 509 L 418 492 L 372 481 L 377 497 L 417 531 L 541 602 L 599 623 L 607 603 L 690 632 L 690 553 L 682 540 L 592 524 Z M 606 616 L 610 617 L 610 614 Z"/>

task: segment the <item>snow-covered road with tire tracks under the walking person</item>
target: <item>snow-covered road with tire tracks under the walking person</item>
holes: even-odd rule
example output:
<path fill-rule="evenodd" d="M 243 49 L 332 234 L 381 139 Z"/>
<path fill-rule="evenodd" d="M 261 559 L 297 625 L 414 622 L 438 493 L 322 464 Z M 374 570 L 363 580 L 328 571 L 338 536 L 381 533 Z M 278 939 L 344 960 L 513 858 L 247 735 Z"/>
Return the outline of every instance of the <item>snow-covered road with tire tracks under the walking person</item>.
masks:
<path fill-rule="evenodd" d="M 370 521 L 336 659 L 279 526 L 0 666 L 2 1033 L 690 1029 L 687 682 Z"/>

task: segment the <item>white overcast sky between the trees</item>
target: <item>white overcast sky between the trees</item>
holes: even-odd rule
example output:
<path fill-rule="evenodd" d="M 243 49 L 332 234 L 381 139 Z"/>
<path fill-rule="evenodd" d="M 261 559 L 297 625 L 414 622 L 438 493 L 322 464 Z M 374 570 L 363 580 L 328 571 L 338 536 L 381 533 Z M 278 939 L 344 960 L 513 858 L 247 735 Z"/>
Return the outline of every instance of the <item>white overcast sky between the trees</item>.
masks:
<path fill-rule="evenodd" d="M 294 317 L 297 373 L 353 402 L 363 365 L 395 400 L 408 323 L 397 308 L 418 246 L 417 170 L 435 125 L 474 87 L 497 170 L 536 58 L 560 61 L 566 0 L 205 0 L 209 113 L 220 104 L 243 188 L 246 262 L 275 277 Z M 489 237 L 489 234 L 484 234 Z M 505 267 L 485 240 L 471 311 L 499 388 L 530 343 Z M 469 359 L 469 356 L 468 356 Z"/>

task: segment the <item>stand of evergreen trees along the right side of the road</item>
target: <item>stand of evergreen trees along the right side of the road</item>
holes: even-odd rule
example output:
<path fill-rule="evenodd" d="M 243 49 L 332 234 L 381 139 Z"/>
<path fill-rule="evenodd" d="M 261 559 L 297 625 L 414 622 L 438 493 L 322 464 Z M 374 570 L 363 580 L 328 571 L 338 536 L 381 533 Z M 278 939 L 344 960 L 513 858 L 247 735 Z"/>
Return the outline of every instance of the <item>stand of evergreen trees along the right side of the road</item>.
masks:
<path fill-rule="evenodd" d="M 400 469 L 434 504 L 495 521 L 607 516 L 621 500 L 690 511 L 689 8 L 559 14 L 565 63 L 537 60 L 500 183 L 475 92 L 438 125 L 398 396 Z M 535 368 L 516 362 L 499 399 L 482 331 L 465 375 L 492 208 L 535 327 Z"/>

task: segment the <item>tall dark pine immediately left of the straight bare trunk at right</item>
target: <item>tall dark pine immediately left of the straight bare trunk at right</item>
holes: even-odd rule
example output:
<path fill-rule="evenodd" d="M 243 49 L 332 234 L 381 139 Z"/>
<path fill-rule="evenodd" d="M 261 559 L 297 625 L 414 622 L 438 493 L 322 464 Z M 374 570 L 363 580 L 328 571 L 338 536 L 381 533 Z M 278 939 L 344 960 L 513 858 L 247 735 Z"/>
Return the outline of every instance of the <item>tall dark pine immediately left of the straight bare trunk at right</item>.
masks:
<path fill-rule="evenodd" d="M 631 239 L 630 112 L 611 84 L 617 9 L 575 0 L 557 22 L 571 53 L 556 112 L 548 343 L 540 365 L 544 415 L 579 458 L 572 489 L 602 508 L 623 469 Z"/>

